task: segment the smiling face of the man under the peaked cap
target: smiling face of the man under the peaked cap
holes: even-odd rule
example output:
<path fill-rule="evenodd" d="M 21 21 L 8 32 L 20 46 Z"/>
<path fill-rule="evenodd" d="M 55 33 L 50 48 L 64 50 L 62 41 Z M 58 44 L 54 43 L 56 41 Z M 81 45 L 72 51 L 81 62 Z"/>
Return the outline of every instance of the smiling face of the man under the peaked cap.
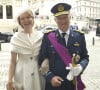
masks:
<path fill-rule="evenodd" d="M 70 24 L 70 16 L 68 14 L 55 17 L 55 21 L 63 32 L 68 30 Z"/>

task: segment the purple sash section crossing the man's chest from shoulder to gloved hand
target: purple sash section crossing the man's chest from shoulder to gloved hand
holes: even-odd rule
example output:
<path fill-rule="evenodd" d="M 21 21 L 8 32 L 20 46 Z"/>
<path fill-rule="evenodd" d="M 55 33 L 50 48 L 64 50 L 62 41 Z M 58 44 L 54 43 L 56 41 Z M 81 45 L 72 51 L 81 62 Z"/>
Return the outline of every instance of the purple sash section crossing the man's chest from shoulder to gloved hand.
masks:
<path fill-rule="evenodd" d="M 53 32 L 48 34 L 48 38 L 50 42 L 53 44 L 54 48 L 56 49 L 61 59 L 64 61 L 65 65 L 69 66 L 69 63 L 71 63 L 72 57 L 68 49 L 57 42 L 57 39 L 55 38 L 55 34 Z"/>

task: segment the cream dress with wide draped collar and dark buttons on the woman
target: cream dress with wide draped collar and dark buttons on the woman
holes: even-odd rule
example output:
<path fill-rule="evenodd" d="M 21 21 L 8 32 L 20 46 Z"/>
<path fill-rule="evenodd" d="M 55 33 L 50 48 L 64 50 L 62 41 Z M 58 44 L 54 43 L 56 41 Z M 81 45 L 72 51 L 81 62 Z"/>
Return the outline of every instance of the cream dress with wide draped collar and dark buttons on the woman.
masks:
<path fill-rule="evenodd" d="M 14 83 L 17 90 L 41 90 L 38 54 L 43 34 L 34 31 L 30 36 L 17 32 L 11 39 L 11 51 L 18 53 Z"/>

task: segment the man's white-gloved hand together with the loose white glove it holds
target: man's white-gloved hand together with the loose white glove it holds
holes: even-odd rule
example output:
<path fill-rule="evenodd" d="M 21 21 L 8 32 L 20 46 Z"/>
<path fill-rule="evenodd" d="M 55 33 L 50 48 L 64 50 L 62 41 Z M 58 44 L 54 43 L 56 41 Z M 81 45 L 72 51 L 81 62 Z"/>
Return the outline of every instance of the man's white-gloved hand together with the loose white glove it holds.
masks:
<path fill-rule="evenodd" d="M 73 80 L 74 76 L 78 76 L 83 70 L 80 64 L 77 64 L 75 67 L 73 67 L 72 64 L 70 64 L 70 67 L 67 67 L 66 69 L 70 70 L 66 77 L 69 81 Z"/>

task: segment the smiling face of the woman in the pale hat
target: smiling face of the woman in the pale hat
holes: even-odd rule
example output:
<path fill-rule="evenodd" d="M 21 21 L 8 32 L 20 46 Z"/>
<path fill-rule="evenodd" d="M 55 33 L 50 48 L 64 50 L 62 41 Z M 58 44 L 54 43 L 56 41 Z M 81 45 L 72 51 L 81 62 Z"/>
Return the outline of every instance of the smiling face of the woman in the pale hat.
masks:
<path fill-rule="evenodd" d="M 29 28 L 32 28 L 33 25 L 34 25 L 34 17 L 32 17 L 31 15 L 29 15 L 29 13 L 24 12 L 24 13 L 22 13 L 20 15 L 19 22 L 20 22 L 20 25 L 24 29 L 29 29 Z"/>

